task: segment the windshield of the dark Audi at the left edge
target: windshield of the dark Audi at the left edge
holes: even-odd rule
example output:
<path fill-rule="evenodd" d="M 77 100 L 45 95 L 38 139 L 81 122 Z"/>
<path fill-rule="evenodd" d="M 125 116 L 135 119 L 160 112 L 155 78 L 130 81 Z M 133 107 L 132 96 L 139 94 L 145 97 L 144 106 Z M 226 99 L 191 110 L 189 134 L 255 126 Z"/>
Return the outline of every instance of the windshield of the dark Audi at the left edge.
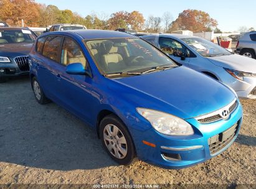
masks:
<path fill-rule="evenodd" d="M 36 35 L 32 34 L 30 30 L 0 29 L 0 44 L 33 43 L 36 38 Z"/>

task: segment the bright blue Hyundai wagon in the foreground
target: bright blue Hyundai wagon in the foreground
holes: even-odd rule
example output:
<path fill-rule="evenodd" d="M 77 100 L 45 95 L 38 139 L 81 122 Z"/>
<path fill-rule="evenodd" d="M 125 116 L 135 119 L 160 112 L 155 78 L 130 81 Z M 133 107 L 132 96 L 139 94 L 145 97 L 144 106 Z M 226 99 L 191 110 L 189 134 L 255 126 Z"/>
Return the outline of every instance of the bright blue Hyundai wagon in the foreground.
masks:
<path fill-rule="evenodd" d="M 166 168 L 195 165 L 227 149 L 242 124 L 234 91 L 130 34 L 43 34 L 29 63 L 36 100 L 95 128 L 119 164 L 138 157 Z"/>

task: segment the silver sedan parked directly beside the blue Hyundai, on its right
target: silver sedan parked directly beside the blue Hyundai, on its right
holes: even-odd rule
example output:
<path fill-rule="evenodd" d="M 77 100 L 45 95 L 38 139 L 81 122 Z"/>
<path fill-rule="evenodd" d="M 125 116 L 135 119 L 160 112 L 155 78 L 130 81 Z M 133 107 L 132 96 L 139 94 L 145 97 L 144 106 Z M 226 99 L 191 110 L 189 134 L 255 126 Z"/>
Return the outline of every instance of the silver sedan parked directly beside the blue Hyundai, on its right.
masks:
<path fill-rule="evenodd" d="M 256 60 L 190 35 L 145 35 L 141 39 L 158 47 L 181 65 L 229 86 L 239 98 L 256 99 Z"/>

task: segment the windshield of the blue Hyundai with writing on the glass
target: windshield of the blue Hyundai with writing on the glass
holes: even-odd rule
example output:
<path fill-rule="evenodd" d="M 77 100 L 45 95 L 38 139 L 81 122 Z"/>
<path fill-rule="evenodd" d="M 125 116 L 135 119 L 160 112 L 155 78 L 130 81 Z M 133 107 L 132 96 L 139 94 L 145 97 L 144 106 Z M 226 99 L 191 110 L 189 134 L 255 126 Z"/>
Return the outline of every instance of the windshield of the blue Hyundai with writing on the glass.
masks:
<path fill-rule="evenodd" d="M 139 38 L 87 40 L 85 44 L 105 75 L 123 72 L 139 75 L 143 71 L 157 71 L 159 67 L 177 66 L 164 53 Z"/>

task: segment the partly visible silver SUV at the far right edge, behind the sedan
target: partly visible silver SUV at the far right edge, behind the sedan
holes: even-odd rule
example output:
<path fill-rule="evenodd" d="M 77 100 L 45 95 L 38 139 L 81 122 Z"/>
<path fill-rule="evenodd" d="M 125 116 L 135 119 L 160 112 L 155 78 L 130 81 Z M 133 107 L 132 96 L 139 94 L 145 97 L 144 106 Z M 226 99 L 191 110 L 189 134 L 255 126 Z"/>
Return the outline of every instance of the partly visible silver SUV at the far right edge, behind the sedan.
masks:
<path fill-rule="evenodd" d="M 256 58 L 256 32 L 242 34 L 237 41 L 235 53 L 249 58 Z"/>

